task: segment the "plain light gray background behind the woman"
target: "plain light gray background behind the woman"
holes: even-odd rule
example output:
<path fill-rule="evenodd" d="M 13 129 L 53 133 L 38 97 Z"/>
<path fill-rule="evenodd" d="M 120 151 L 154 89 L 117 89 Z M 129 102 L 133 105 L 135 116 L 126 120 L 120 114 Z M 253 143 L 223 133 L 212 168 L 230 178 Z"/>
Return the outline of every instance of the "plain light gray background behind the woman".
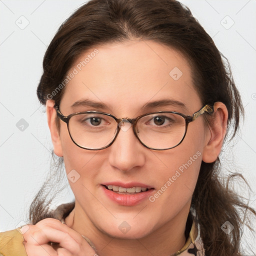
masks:
<path fill-rule="evenodd" d="M 23 223 L 49 170 L 52 145 L 36 86 L 47 45 L 59 25 L 83 2 L 0 0 L 0 231 Z M 241 172 L 252 188 L 250 203 L 256 208 L 256 0 L 181 2 L 231 64 L 245 106 L 245 121 L 234 142 L 223 148 L 223 176 L 226 170 Z M 17 127 L 24 122 L 21 118 L 28 124 L 23 130 Z M 248 195 L 240 182 L 235 187 Z M 72 198 L 66 189 L 54 204 Z M 256 251 L 255 237 L 245 233 L 243 243 L 249 245 L 244 247 Z M 245 253 L 252 255 L 248 250 Z"/>

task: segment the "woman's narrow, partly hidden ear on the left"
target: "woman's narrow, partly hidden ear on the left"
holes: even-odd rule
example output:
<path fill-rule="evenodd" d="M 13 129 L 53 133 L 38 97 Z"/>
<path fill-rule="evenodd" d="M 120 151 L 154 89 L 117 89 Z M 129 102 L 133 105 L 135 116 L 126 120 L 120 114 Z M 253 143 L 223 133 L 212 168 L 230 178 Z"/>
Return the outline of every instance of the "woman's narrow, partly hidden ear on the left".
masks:
<path fill-rule="evenodd" d="M 54 108 L 54 101 L 47 99 L 45 108 L 51 141 L 53 144 L 53 151 L 57 156 L 63 156 L 60 136 L 56 125 L 56 109 Z"/>

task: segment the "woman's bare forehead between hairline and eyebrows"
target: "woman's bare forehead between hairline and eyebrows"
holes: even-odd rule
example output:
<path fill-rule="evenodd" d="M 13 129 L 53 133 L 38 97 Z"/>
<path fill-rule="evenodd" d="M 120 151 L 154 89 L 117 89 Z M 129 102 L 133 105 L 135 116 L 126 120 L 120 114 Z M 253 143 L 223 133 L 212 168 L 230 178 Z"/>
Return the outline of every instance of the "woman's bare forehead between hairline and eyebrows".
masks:
<path fill-rule="evenodd" d="M 108 43 L 79 56 L 61 102 L 90 98 L 122 109 L 171 98 L 193 104 L 191 68 L 181 53 L 151 40 Z"/>

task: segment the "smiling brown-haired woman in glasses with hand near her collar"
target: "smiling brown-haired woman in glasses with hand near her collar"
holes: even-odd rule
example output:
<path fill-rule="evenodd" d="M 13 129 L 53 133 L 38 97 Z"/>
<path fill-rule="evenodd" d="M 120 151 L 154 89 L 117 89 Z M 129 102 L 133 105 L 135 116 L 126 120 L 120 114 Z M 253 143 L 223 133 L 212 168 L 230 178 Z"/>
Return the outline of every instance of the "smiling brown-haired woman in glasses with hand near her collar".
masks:
<path fill-rule="evenodd" d="M 75 201 L 49 211 L 39 192 L 3 255 L 241 255 L 237 207 L 256 212 L 217 174 L 243 108 L 186 7 L 89 1 L 48 46 L 37 96 Z"/>

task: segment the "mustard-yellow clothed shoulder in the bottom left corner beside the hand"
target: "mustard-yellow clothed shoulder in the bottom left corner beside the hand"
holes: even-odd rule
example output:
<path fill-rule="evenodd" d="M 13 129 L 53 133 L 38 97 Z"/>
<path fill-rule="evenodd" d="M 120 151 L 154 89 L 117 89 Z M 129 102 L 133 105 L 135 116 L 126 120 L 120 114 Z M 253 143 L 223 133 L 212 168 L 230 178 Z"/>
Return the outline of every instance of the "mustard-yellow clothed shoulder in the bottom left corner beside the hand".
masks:
<path fill-rule="evenodd" d="M 27 256 L 20 228 L 0 232 L 0 256 Z"/>

